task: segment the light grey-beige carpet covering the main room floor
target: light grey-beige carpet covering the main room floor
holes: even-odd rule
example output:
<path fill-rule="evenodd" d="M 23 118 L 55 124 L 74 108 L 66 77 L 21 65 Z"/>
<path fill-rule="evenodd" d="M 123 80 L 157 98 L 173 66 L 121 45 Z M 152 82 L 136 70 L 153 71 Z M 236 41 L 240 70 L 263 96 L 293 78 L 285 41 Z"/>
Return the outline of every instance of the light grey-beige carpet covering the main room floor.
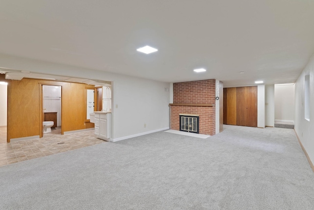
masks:
<path fill-rule="evenodd" d="M 0 209 L 313 210 L 293 130 L 156 132 L 0 167 Z"/>

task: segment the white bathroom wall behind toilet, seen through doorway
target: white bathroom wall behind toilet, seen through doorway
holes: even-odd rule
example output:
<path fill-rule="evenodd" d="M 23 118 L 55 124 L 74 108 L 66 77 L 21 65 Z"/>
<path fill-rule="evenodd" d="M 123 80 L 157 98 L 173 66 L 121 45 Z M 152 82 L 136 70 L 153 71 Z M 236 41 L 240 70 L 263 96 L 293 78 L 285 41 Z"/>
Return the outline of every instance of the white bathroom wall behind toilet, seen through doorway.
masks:
<path fill-rule="evenodd" d="M 43 85 L 44 112 L 57 112 L 57 126 L 61 127 L 61 86 Z"/>

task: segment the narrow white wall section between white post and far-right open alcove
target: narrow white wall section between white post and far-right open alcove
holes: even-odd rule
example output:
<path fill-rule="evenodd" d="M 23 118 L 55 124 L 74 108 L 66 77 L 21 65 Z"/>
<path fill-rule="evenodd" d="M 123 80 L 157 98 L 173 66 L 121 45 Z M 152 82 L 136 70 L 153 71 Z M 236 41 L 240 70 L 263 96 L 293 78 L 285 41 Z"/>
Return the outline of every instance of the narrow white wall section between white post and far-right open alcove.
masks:
<path fill-rule="evenodd" d="M 275 86 L 265 85 L 265 126 L 275 125 Z"/>

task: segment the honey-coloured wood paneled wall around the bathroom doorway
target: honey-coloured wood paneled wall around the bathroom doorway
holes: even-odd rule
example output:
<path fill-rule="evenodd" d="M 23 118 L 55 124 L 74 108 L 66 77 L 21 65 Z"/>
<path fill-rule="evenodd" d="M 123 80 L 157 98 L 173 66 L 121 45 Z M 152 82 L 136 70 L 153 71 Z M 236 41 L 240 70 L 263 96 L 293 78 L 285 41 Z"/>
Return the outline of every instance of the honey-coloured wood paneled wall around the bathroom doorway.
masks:
<path fill-rule="evenodd" d="M 94 85 L 43 79 L 6 80 L 8 82 L 7 141 L 12 138 L 42 136 L 41 86 L 62 86 L 61 132 L 93 128 L 84 122 L 86 89 Z"/>

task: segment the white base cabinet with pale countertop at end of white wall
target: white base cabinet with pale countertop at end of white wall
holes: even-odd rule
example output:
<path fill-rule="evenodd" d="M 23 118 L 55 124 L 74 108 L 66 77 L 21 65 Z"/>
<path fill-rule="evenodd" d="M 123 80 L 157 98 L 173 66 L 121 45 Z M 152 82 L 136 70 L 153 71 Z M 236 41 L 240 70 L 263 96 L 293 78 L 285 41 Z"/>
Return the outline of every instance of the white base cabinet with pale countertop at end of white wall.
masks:
<path fill-rule="evenodd" d="M 95 112 L 95 135 L 97 138 L 110 141 L 111 138 L 111 113 Z"/>

